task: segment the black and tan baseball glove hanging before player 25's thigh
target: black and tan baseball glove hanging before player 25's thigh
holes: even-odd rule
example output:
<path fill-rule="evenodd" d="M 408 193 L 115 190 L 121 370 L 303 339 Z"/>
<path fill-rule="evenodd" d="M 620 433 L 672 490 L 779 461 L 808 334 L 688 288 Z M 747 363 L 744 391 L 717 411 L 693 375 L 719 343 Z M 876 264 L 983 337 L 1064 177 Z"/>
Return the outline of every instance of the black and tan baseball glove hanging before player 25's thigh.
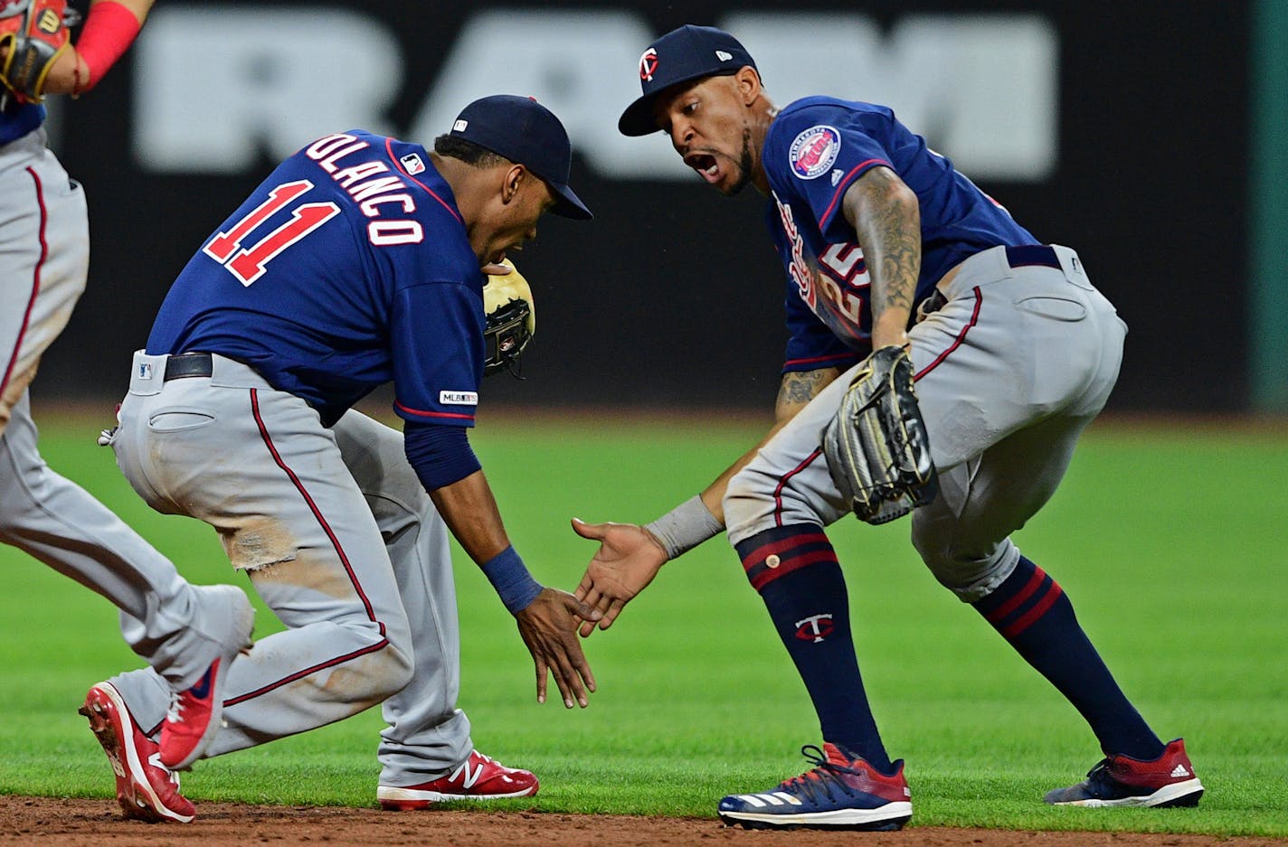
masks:
<path fill-rule="evenodd" d="M 823 454 L 859 520 L 884 524 L 935 498 L 930 439 L 903 348 L 881 348 L 859 366 L 823 429 Z"/>

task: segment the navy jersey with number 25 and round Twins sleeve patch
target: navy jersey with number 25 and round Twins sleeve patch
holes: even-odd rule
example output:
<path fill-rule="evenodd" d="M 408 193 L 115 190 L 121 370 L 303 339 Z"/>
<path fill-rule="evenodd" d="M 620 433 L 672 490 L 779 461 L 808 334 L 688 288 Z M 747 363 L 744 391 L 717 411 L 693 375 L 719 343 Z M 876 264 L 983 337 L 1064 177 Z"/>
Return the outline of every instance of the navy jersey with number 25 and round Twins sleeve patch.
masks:
<path fill-rule="evenodd" d="M 871 351 L 872 281 L 841 209 L 846 189 L 871 169 L 894 170 L 917 194 L 917 301 L 967 256 L 1038 243 L 884 106 L 796 100 L 770 124 L 761 157 L 770 187 L 765 221 L 787 269 L 784 372 L 845 367 Z"/>

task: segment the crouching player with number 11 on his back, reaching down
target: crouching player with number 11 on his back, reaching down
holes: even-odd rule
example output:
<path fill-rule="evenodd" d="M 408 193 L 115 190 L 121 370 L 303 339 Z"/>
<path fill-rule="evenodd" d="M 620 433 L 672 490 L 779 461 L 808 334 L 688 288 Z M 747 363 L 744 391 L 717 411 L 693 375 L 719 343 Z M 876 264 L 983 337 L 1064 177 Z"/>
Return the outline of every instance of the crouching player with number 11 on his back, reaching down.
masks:
<path fill-rule="evenodd" d="M 536 793 L 532 774 L 474 749 L 456 708 L 448 532 L 514 614 L 537 699 L 549 671 L 564 704 L 585 707 L 595 682 L 573 615 L 598 613 L 532 578 L 466 439 L 484 372 L 480 268 L 535 238 L 546 211 L 590 218 L 571 161 L 559 120 L 522 97 L 471 103 L 433 152 L 327 135 L 269 174 L 175 279 L 112 447 L 153 508 L 215 528 L 289 627 L 232 666 L 207 757 L 384 703 L 385 808 Z M 402 433 L 350 409 L 390 381 Z M 137 671 L 90 698 L 147 731 L 164 694 Z M 131 735 L 91 726 L 109 757 L 134 761 Z"/>

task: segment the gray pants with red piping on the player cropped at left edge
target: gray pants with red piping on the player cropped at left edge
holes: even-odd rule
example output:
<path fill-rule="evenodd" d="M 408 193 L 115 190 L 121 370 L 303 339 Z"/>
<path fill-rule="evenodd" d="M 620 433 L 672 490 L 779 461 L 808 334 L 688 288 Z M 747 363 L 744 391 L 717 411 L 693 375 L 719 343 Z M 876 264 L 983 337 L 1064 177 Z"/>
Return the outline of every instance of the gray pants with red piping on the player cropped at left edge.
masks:
<path fill-rule="evenodd" d="M 85 290 L 85 193 L 45 131 L 0 145 L 0 541 L 111 600 L 126 642 L 175 689 L 232 636 L 165 556 L 40 456 L 28 385 Z"/>

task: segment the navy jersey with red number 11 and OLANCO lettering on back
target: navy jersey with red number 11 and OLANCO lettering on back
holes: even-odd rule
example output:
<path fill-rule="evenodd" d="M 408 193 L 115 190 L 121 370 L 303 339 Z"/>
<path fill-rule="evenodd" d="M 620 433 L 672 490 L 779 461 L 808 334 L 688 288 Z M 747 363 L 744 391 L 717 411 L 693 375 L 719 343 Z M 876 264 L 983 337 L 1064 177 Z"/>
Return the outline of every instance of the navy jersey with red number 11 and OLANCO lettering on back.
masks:
<path fill-rule="evenodd" d="M 147 350 L 243 362 L 325 425 L 393 381 L 404 420 L 473 426 L 483 281 L 425 148 L 350 130 L 287 158 L 219 225 Z"/>

